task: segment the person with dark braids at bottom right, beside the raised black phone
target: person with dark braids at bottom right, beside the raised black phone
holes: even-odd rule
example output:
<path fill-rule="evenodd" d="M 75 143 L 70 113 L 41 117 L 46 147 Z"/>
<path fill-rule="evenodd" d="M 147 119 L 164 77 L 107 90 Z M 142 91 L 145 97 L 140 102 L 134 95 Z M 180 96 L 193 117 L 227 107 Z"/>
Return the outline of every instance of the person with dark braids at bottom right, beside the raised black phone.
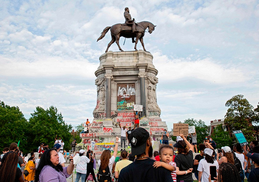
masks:
<path fill-rule="evenodd" d="M 208 180 L 211 182 L 210 176 Z M 241 182 L 241 178 L 236 166 L 229 162 L 224 162 L 220 165 L 218 176 L 214 182 Z"/>

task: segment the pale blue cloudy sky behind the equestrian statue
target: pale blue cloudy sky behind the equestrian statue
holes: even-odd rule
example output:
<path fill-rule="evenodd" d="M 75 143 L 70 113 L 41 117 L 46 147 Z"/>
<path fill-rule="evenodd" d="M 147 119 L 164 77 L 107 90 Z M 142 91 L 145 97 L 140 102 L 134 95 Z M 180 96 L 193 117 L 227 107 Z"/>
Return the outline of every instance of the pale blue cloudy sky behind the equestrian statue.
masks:
<path fill-rule="evenodd" d="M 51 105 L 73 126 L 93 119 L 94 72 L 110 33 L 96 40 L 106 26 L 125 21 L 125 7 L 137 22 L 157 25 L 144 43 L 154 56 L 158 105 L 169 129 L 188 118 L 207 125 L 223 119 L 226 101 L 238 94 L 258 104 L 258 1 L 0 3 L 0 100 L 26 119 L 37 106 Z M 123 50 L 133 50 L 130 39 L 123 42 Z M 109 50 L 119 51 L 116 44 Z"/>

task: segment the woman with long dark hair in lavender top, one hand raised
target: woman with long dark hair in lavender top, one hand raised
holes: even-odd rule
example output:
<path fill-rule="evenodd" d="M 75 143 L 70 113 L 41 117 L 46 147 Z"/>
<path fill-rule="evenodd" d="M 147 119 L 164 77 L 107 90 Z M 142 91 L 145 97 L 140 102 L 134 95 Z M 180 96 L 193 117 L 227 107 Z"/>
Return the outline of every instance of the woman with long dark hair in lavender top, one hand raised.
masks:
<path fill-rule="evenodd" d="M 46 150 L 40 159 L 38 168 L 35 173 L 35 182 L 66 182 L 75 165 L 73 164 L 73 157 L 68 167 L 62 167 L 59 164 L 58 152 L 56 149 Z"/>

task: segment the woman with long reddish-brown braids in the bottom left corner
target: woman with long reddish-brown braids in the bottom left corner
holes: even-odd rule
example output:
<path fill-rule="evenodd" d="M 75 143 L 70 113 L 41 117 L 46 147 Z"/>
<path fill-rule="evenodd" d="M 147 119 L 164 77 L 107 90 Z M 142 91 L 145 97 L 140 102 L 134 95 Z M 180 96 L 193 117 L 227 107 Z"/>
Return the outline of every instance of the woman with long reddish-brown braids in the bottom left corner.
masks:
<path fill-rule="evenodd" d="M 18 155 L 9 153 L 0 169 L 0 182 L 23 182 L 24 177 L 20 168 L 17 167 Z"/>

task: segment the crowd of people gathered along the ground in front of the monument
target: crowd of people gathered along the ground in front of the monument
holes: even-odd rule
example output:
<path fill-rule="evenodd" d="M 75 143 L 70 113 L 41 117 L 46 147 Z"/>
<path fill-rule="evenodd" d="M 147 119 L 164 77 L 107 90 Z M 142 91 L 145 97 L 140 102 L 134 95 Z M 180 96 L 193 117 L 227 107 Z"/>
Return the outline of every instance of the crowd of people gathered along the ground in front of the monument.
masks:
<path fill-rule="evenodd" d="M 125 130 L 121 127 L 121 130 Z M 125 131 L 125 138 L 130 143 L 131 153 L 123 150 L 121 142 L 120 157 L 118 153 L 119 137 L 116 137 L 113 153 L 104 150 L 97 164 L 99 170 L 96 174 L 96 159 L 93 151 L 81 149 L 76 157 L 70 156 L 70 164 L 65 167 L 62 154 L 61 138 L 55 140 L 53 148 L 46 149 L 43 143 L 39 149 L 39 158 L 34 152 L 26 162 L 18 144 L 12 143 L 9 148 L 3 149 L 0 163 L 0 182 L 65 182 L 76 164 L 76 182 L 128 182 L 128 181 L 169 181 L 192 182 L 194 173 L 198 182 L 241 182 L 245 177 L 248 182 L 259 181 L 259 146 L 252 141 L 249 146 L 235 144 L 233 150 L 224 146 L 215 150 L 216 143 L 212 138 L 206 137 L 203 144 L 198 144 L 199 154 L 194 158 L 194 148 L 197 145 L 196 133 L 191 134 L 190 143 L 184 135 L 179 135 L 177 142 L 171 146 L 166 142 L 168 133 L 164 130 L 159 151 L 153 152 L 152 138 L 144 128 L 135 128 L 129 134 Z M 127 134 L 126 134 L 127 133 Z M 76 143 L 76 142 L 74 142 Z M 125 145 L 124 145 L 125 147 Z M 196 150 L 196 148 L 195 148 Z"/>

